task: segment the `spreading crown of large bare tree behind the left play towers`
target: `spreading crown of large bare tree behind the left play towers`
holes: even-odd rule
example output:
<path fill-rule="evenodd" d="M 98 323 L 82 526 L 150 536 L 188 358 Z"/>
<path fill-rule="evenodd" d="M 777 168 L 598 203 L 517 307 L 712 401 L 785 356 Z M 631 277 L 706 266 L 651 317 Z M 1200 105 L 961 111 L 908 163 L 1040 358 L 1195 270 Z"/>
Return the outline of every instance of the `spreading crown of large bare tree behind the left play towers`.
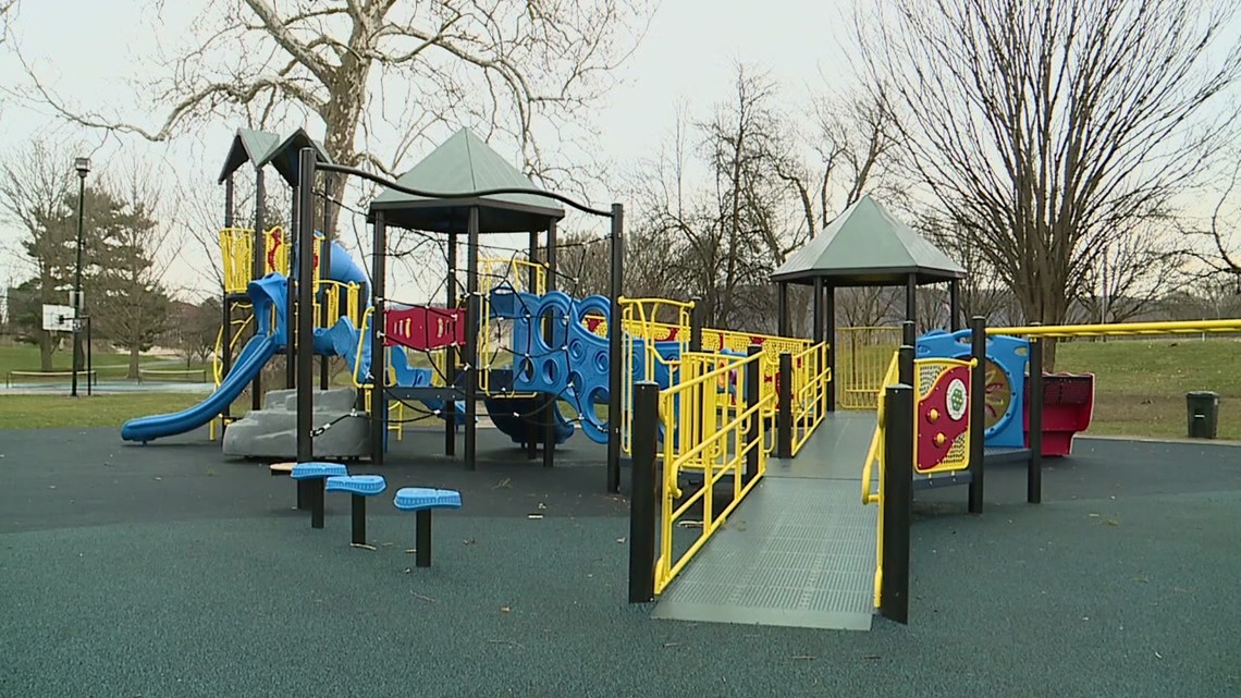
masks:
<path fill-rule="evenodd" d="M 164 112 L 154 128 L 69 104 L 27 72 L 32 97 L 62 117 L 155 142 L 221 116 L 259 125 L 309 116 L 336 163 L 390 173 L 429 130 L 484 124 L 530 171 L 555 176 L 563 171 L 539 134 L 585 120 L 645 17 L 644 0 L 213 0 L 148 89 Z M 396 143 L 381 153 L 383 129 Z M 344 188 L 334 178 L 330 196 Z"/>

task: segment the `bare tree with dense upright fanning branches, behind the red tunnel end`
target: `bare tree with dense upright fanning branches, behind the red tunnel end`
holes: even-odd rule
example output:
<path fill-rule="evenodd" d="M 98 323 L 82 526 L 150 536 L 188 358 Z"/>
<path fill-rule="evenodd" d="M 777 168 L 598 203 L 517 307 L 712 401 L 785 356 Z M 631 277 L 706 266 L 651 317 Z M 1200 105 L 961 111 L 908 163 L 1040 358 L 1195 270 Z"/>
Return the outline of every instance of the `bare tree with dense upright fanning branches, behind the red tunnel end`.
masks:
<path fill-rule="evenodd" d="M 1013 289 L 1064 322 L 1100 251 L 1217 144 L 1241 75 L 1212 53 L 1234 9 L 1200 0 L 894 0 L 864 70 L 917 181 Z M 1054 361 L 1049 350 L 1049 364 Z"/>

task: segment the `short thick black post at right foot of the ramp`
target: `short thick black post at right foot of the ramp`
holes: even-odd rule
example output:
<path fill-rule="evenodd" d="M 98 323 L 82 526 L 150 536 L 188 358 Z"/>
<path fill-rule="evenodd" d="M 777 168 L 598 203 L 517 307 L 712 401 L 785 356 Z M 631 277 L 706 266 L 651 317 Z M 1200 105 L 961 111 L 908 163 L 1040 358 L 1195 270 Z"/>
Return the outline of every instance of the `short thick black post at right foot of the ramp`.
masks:
<path fill-rule="evenodd" d="M 879 612 L 910 622 L 910 523 L 913 509 L 913 389 L 890 385 L 884 427 L 884 579 Z"/>

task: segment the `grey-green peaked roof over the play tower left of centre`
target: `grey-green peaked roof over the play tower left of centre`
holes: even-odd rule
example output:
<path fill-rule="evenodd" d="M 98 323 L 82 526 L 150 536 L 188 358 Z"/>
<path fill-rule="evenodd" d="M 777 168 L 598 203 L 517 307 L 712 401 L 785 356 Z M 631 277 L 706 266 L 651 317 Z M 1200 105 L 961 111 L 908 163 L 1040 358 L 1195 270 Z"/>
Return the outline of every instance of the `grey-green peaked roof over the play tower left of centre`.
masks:
<path fill-rule="evenodd" d="M 479 137 L 462 129 L 431 152 L 397 184 L 436 194 L 489 189 L 539 189 Z M 383 211 L 393 226 L 436 232 L 465 231 L 469 210 L 479 209 L 479 232 L 529 232 L 544 230 L 565 217 L 551 199 L 529 194 L 503 194 L 472 199 L 428 199 L 385 189 L 371 200 L 367 217 Z"/>

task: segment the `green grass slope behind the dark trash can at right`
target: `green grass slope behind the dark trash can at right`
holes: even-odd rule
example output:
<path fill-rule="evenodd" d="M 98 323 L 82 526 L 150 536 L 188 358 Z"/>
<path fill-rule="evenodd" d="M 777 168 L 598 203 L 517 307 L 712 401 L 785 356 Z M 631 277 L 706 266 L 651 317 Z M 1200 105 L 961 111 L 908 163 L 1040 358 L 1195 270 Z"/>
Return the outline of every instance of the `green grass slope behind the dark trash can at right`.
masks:
<path fill-rule="evenodd" d="M 1185 392 L 1220 394 L 1219 437 L 1241 440 L 1241 342 L 1224 338 L 1158 342 L 1071 342 L 1056 370 L 1095 374 L 1088 433 L 1184 437 Z"/>

